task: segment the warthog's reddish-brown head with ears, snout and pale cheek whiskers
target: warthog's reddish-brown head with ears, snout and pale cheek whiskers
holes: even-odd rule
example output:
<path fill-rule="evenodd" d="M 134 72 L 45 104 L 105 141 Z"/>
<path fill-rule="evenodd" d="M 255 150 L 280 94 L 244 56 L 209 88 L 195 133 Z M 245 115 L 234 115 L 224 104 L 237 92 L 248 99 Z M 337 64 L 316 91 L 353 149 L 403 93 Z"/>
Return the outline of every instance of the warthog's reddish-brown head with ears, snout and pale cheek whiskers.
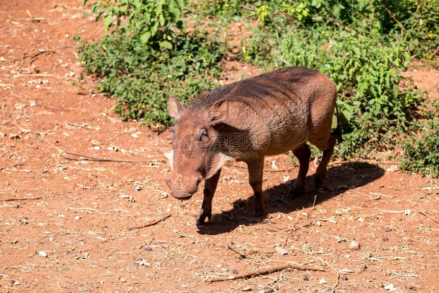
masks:
<path fill-rule="evenodd" d="M 204 178 L 210 178 L 231 158 L 218 151 L 215 126 L 228 117 L 229 104 L 222 100 L 209 108 L 185 108 L 169 95 L 169 115 L 177 120 L 171 131 L 173 150 L 166 154 L 173 172 L 165 181 L 171 195 L 189 199 Z"/>

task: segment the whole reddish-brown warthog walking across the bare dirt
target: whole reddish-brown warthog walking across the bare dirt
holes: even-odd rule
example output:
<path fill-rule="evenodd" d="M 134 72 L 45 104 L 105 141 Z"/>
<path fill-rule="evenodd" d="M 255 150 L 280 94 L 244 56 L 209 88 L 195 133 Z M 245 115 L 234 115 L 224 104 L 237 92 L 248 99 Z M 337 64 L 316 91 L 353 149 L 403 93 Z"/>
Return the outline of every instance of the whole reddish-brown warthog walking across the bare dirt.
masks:
<path fill-rule="evenodd" d="M 300 166 L 288 196 L 299 195 L 311 155 L 307 141 L 323 151 L 315 173 L 315 187 L 320 188 L 336 142 L 331 136 L 335 102 L 334 83 L 305 67 L 287 67 L 215 88 L 187 108 L 169 95 L 168 112 L 177 120 L 171 130 L 173 151 L 167 154 L 173 167 L 165 179 L 170 194 L 189 199 L 206 179 L 196 219 L 196 226 L 202 226 L 212 216 L 221 168 L 243 161 L 255 194 L 253 216 L 259 217 L 268 202 L 261 187 L 264 157 L 292 150 Z"/>

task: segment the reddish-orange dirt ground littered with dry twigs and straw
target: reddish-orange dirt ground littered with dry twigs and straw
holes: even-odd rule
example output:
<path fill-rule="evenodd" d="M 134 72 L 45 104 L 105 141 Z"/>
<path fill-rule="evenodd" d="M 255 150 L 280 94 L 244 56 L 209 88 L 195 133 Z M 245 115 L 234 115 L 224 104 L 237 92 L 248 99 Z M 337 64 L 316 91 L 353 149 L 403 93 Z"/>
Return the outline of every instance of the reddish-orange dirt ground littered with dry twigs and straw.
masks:
<path fill-rule="evenodd" d="M 247 170 L 224 168 L 212 221 L 194 228 L 200 192 L 185 202 L 166 193 L 167 132 L 122 122 L 93 78 L 78 81 L 71 37 L 93 40 L 101 28 L 82 0 L 0 7 L 2 291 L 439 292 L 438 182 L 392 162 L 333 163 L 336 192 L 313 188 L 311 163 L 306 196 L 283 200 L 298 167 L 270 157 L 267 170 L 287 170 L 264 173 L 272 200 L 262 218 L 251 216 Z M 255 73 L 239 70 L 229 81 Z M 437 97 L 438 71 L 409 74 Z M 205 282 L 290 263 L 325 271 Z"/>

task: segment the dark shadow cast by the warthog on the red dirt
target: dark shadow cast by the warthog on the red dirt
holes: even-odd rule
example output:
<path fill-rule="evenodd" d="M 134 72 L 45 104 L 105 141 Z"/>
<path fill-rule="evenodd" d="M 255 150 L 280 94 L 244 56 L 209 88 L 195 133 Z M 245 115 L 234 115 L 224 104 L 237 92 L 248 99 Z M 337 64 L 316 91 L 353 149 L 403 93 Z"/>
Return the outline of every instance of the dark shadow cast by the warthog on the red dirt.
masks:
<path fill-rule="evenodd" d="M 332 166 L 328 169 L 325 183 L 332 187 L 334 191 L 316 190 L 314 188 L 314 175 L 306 177 L 306 193 L 303 196 L 287 198 L 290 190 L 289 185 L 293 181 L 279 184 L 265 190 L 269 196 L 269 206 L 264 216 L 254 218 L 252 216 L 254 208 L 254 196 L 247 200 L 238 199 L 233 202 L 233 209 L 229 211 L 215 211 L 211 221 L 207 221 L 205 226 L 198 227 L 198 233 L 207 235 L 217 235 L 228 233 L 239 225 L 250 225 L 270 218 L 272 214 L 291 213 L 304 208 L 319 205 L 321 202 L 343 194 L 348 188 L 357 188 L 368 185 L 384 175 L 384 169 L 378 165 L 365 163 L 346 163 L 343 165 Z M 337 190 L 338 188 L 338 190 Z M 314 203 L 315 197 L 315 203 Z"/>

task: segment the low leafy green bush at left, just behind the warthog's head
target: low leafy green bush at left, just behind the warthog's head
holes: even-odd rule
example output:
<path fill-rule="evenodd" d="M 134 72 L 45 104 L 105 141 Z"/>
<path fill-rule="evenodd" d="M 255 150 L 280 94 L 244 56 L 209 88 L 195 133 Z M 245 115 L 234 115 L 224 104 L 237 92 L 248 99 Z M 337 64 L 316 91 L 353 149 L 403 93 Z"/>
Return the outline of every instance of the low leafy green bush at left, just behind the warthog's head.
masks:
<path fill-rule="evenodd" d="M 93 11 L 111 0 L 97 2 Z M 218 36 L 186 28 L 181 1 L 121 1 L 98 14 L 116 28 L 95 43 L 82 40 L 78 51 L 88 73 L 101 80 L 96 87 L 116 97 L 115 111 L 124 119 L 169 124 L 167 97 L 185 102 L 216 84 L 224 44 Z M 128 18 L 124 24 L 125 18 Z"/>

